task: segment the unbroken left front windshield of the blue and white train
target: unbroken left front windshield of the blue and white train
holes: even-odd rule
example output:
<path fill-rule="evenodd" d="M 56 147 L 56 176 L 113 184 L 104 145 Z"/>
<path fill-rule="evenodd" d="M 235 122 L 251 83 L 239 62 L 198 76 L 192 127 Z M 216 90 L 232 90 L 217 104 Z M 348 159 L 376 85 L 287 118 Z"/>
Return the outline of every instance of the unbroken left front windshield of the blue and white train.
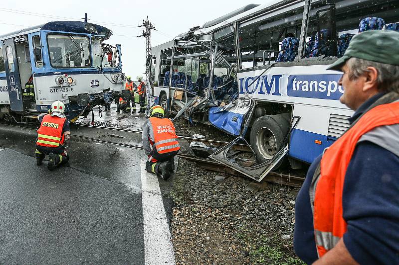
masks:
<path fill-rule="evenodd" d="M 47 42 L 52 67 L 91 67 L 89 38 L 70 34 L 48 35 Z"/>

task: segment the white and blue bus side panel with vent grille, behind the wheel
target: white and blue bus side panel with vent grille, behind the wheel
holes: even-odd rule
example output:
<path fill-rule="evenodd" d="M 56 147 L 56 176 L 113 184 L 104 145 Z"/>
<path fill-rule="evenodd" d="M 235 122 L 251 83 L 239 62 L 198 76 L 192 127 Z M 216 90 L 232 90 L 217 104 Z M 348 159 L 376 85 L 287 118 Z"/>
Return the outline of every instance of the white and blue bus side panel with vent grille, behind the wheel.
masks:
<path fill-rule="evenodd" d="M 301 118 L 291 133 L 288 155 L 312 163 L 335 142 L 337 133 L 346 130 L 349 126 L 346 119 L 352 113 L 351 110 L 295 104 L 293 116 Z"/>

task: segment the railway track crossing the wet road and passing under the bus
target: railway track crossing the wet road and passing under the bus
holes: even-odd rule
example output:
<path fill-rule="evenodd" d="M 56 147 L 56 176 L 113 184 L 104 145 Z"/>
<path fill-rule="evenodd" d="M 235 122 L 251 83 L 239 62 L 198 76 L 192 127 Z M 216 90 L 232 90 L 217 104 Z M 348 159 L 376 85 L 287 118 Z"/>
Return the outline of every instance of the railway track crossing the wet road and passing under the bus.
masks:
<path fill-rule="evenodd" d="M 17 128 L 27 129 L 27 130 L 35 130 L 34 128 L 29 128 L 29 127 L 21 126 L 21 125 L 10 125 L 10 124 L 2 123 L 1 126 L 17 127 Z M 141 134 L 141 131 L 139 131 L 139 130 L 135 131 L 135 130 L 120 129 L 120 128 L 108 128 L 108 127 L 101 127 L 101 126 L 86 126 L 86 125 L 78 125 L 78 126 L 91 127 L 91 128 L 102 128 L 102 129 L 109 129 L 109 130 L 115 130 L 115 131 L 124 131 L 124 132 Z M 77 135 L 77 134 L 71 134 L 71 136 L 72 136 L 72 139 L 82 139 L 82 140 L 87 140 L 87 141 L 94 141 L 94 142 L 99 142 L 99 143 L 104 143 L 104 144 L 111 144 L 111 145 L 140 149 L 140 150 L 143 149 L 143 146 L 141 146 L 141 145 L 116 143 L 116 142 L 112 142 L 112 141 L 101 140 L 101 139 L 86 137 L 86 136 Z M 215 146 L 216 146 L 216 144 L 218 144 L 218 146 L 224 146 L 225 144 L 227 144 L 226 142 L 218 142 L 215 140 L 204 140 L 204 139 L 197 139 L 197 138 L 192 138 L 192 137 L 181 137 L 181 138 L 183 138 L 185 140 L 208 142 L 208 143 L 214 144 Z M 242 146 L 244 146 L 244 145 L 242 145 Z M 240 148 L 240 147 L 238 146 L 237 148 Z M 247 150 L 248 149 L 249 148 L 247 147 Z M 240 151 L 245 151 L 245 150 L 240 150 Z M 186 155 L 186 154 L 178 154 L 178 157 L 195 162 L 195 163 L 197 163 L 198 166 L 200 166 L 201 168 L 203 168 L 205 170 L 215 171 L 215 172 L 225 172 L 227 174 L 235 175 L 235 176 L 243 176 L 241 173 L 239 173 L 221 163 L 210 160 L 210 159 L 197 158 L 197 157 Z M 284 172 L 284 171 L 270 172 L 264 179 L 269 182 L 293 186 L 293 187 L 300 187 L 302 185 L 303 181 L 305 180 L 305 178 L 303 176 L 299 176 L 298 174 Z"/>

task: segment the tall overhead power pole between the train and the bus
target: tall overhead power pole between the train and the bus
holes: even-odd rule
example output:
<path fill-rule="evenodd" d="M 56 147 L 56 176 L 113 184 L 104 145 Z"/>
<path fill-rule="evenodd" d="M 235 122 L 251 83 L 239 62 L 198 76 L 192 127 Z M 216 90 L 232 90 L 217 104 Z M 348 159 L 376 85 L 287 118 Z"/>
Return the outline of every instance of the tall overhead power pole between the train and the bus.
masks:
<path fill-rule="evenodd" d="M 148 20 L 143 19 L 143 25 L 140 25 L 139 27 L 145 27 L 146 29 L 143 29 L 143 34 L 140 37 L 145 37 L 146 38 L 146 88 L 147 88 L 147 107 L 146 107 L 146 115 L 150 115 L 150 105 L 152 104 L 153 97 L 152 97 L 152 87 L 151 87 L 151 30 L 155 29 L 155 26 Z M 155 29 L 156 30 L 156 29 Z"/>

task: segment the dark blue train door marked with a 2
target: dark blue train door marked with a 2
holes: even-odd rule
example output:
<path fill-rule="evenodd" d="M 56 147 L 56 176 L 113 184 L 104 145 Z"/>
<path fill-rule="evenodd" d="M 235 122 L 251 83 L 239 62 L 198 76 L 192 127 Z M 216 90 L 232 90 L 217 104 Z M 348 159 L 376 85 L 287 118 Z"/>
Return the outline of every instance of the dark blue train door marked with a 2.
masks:
<path fill-rule="evenodd" d="M 22 88 L 19 78 L 18 61 L 16 57 L 14 40 L 11 38 L 2 41 L 2 47 L 11 110 L 22 111 Z"/>

